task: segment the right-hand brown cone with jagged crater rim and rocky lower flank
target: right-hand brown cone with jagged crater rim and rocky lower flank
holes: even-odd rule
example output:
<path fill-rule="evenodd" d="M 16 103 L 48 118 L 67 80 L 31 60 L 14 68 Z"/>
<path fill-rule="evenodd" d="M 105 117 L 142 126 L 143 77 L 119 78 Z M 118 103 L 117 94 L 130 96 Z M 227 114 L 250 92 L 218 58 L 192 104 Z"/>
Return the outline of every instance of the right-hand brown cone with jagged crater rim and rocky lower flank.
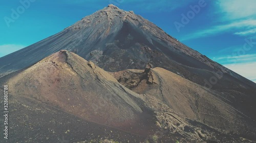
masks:
<path fill-rule="evenodd" d="M 194 141 L 226 142 L 230 139 L 225 140 L 223 136 L 226 135 L 237 135 L 236 141 L 242 138 L 255 140 L 255 120 L 245 115 L 241 106 L 237 108 L 236 102 L 229 100 L 225 93 L 208 90 L 162 68 L 111 74 L 125 87 L 141 95 L 143 101 L 155 110 L 163 129 L 178 132 Z"/>

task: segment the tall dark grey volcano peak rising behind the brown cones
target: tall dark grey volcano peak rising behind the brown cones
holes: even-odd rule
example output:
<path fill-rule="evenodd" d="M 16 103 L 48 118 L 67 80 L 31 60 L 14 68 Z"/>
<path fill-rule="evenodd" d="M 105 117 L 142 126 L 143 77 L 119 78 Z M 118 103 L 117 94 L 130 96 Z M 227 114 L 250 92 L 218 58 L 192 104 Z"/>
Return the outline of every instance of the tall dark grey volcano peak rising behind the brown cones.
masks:
<path fill-rule="evenodd" d="M 106 71 L 144 69 L 150 63 L 212 89 L 243 92 L 256 88 L 254 82 L 185 46 L 152 22 L 113 5 L 0 58 L 0 76 L 29 67 L 61 49 L 73 51 Z M 219 77 L 215 72 L 221 75 L 218 83 L 208 84 L 211 77 Z"/>

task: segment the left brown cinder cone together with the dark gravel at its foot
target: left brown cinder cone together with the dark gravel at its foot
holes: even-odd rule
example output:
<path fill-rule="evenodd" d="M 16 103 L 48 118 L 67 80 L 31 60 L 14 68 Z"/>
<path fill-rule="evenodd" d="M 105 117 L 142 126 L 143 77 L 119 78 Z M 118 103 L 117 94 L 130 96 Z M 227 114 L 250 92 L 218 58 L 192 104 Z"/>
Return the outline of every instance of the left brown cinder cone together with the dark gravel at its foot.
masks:
<path fill-rule="evenodd" d="M 11 142 L 56 142 L 59 135 L 72 141 L 143 141 L 157 130 L 138 94 L 66 50 L 1 82 L 9 85 Z"/>

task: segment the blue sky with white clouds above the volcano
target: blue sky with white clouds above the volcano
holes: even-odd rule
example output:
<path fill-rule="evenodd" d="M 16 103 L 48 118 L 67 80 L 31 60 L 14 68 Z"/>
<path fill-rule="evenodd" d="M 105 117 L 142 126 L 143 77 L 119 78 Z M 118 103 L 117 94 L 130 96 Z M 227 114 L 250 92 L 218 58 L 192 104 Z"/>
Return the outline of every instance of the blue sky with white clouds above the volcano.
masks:
<path fill-rule="evenodd" d="M 56 34 L 113 3 L 120 9 L 133 10 L 187 46 L 256 82 L 255 0 L 20 0 L 1 3 L 0 57 Z M 18 12 L 18 16 L 12 15 L 13 11 Z"/>

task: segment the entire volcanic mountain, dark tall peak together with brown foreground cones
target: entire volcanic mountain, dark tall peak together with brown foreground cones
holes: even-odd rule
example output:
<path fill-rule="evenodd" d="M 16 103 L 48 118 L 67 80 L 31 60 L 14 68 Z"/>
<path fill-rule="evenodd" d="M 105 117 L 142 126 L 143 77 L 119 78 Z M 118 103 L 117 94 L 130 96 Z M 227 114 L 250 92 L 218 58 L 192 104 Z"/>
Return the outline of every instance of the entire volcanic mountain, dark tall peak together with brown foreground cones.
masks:
<path fill-rule="evenodd" d="M 0 79 L 12 142 L 256 141 L 254 82 L 114 5 L 0 58 Z"/>

